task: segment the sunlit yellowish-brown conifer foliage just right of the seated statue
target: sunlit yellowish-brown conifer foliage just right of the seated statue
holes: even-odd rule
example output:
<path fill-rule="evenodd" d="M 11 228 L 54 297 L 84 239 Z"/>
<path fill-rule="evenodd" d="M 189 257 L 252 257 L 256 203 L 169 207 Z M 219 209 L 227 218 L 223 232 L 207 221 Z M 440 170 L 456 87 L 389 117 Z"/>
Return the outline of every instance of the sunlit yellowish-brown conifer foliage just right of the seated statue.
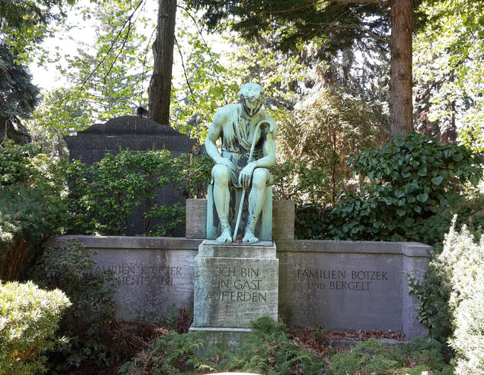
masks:
<path fill-rule="evenodd" d="M 335 204 L 351 175 L 348 157 L 379 142 L 375 112 L 364 98 L 334 89 L 306 98 L 291 115 L 274 113 L 279 120 L 276 176 L 286 174 L 276 179 L 281 198 Z"/>

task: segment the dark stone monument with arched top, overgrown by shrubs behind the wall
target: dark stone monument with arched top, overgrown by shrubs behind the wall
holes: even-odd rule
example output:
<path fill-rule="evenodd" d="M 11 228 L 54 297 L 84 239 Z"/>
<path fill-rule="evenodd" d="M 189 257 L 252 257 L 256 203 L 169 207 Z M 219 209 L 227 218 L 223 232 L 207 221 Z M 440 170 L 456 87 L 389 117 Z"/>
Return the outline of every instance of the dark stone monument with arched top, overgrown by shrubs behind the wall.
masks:
<path fill-rule="evenodd" d="M 69 159 L 80 159 L 86 165 L 100 162 L 104 155 L 117 154 L 120 149 L 129 149 L 132 152 L 167 149 L 174 157 L 179 157 L 181 154 L 190 153 L 196 142 L 168 125 L 160 125 L 138 116 L 116 117 L 64 139 L 68 144 Z M 156 197 L 156 203 L 168 206 L 184 202 L 185 197 L 179 193 L 178 186 L 164 186 Z M 143 206 L 140 204 L 139 209 L 135 209 L 129 218 L 125 233 L 127 236 L 143 233 Z M 183 234 L 184 228 L 176 233 L 178 236 Z"/>

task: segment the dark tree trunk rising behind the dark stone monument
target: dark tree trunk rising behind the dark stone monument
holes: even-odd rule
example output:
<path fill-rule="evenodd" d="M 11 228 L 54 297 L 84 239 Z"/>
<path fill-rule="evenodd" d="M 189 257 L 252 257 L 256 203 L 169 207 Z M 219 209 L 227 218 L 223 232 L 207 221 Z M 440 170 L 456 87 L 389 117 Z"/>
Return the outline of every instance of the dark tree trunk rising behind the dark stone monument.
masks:
<path fill-rule="evenodd" d="M 175 41 L 176 0 L 158 0 L 158 26 L 153 43 L 153 75 L 148 88 L 149 118 L 168 125 L 171 68 Z"/>

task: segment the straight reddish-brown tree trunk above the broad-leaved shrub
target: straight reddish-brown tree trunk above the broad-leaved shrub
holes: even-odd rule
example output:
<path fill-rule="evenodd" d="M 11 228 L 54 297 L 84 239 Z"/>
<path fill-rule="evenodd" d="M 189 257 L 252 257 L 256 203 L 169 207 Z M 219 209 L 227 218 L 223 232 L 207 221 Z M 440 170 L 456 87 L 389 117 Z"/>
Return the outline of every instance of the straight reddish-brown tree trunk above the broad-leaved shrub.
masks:
<path fill-rule="evenodd" d="M 412 105 L 413 0 L 394 0 L 390 17 L 390 137 L 404 136 L 414 128 Z"/>

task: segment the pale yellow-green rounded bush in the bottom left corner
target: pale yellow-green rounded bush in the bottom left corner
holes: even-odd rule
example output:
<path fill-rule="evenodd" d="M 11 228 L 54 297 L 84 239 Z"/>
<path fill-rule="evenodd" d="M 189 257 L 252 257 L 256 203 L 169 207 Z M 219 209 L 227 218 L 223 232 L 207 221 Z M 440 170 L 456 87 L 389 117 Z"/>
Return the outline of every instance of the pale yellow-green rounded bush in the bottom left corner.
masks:
<path fill-rule="evenodd" d="M 55 332 L 71 303 L 60 290 L 41 290 L 33 282 L 0 283 L 0 373 L 44 374 L 45 356 L 65 343 Z"/>

